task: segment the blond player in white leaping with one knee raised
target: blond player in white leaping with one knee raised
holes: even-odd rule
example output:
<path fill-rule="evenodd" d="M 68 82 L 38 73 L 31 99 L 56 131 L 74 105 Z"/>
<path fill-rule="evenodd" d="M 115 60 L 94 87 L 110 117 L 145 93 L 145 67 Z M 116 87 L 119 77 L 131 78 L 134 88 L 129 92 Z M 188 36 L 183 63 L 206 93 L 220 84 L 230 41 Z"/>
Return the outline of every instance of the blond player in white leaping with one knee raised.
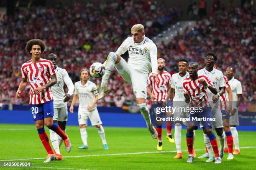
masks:
<path fill-rule="evenodd" d="M 157 138 L 157 132 L 150 120 L 149 110 L 146 107 L 148 75 L 152 71 L 152 77 L 158 82 L 157 74 L 157 50 L 152 40 L 145 36 L 144 27 L 141 24 L 133 25 L 132 37 L 126 38 L 116 52 L 110 52 L 108 59 L 104 62 L 105 75 L 99 91 L 99 100 L 108 92 L 108 78 L 116 67 L 118 73 L 126 82 L 131 82 L 133 92 L 137 99 L 138 109 L 146 120 L 148 130 L 152 138 Z M 120 57 L 128 50 L 128 63 Z"/>

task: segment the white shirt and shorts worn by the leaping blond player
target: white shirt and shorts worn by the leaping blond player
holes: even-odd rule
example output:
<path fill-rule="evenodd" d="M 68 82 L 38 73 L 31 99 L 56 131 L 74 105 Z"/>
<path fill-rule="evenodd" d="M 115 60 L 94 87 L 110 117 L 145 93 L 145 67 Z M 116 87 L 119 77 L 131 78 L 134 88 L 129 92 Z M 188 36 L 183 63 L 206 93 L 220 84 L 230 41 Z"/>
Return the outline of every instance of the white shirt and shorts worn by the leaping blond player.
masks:
<path fill-rule="evenodd" d="M 122 55 L 127 50 L 128 63 L 121 57 L 116 68 L 125 81 L 132 83 L 136 98 L 146 99 L 148 75 L 151 71 L 157 74 L 156 45 L 146 36 L 140 43 L 134 43 L 133 37 L 128 37 L 115 53 Z"/>

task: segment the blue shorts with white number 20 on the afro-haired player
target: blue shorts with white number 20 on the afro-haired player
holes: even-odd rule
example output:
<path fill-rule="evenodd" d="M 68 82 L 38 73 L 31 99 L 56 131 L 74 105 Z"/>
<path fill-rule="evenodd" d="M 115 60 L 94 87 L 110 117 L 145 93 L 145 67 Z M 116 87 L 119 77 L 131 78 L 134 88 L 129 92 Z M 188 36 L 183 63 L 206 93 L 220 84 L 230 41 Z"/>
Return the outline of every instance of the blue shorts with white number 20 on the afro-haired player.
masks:
<path fill-rule="evenodd" d="M 54 116 L 53 100 L 39 105 L 31 105 L 33 120 L 44 120 L 47 117 Z"/>

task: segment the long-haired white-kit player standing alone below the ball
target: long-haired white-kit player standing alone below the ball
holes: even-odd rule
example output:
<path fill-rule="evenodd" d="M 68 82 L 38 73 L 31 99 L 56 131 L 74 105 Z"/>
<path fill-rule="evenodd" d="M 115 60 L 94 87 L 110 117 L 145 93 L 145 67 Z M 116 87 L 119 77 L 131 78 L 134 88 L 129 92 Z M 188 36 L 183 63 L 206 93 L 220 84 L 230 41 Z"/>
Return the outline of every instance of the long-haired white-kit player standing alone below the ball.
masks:
<path fill-rule="evenodd" d="M 74 97 L 69 108 L 70 112 L 74 112 L 74 104 L 79 98 L 78 107 L 78 123 L 80 127 L 80 134 L 83 145 L 78 149 L 88 149 L 87 145 L 87 131 L 88 118 L 90 119 L 92 126 L 95 126 L 98 130 L 100 138 L 102 140 L 103 149 L 108 150 L 108 145 L 105 139 L 105 131 L 100 120 L 100 115 L 97 110 L 98 90 L 95 83 L 89 80 L 90 72 L 87 69 L 82 69 L 79 73 L 80 81 L 75 82 L 74 85 Z"/>

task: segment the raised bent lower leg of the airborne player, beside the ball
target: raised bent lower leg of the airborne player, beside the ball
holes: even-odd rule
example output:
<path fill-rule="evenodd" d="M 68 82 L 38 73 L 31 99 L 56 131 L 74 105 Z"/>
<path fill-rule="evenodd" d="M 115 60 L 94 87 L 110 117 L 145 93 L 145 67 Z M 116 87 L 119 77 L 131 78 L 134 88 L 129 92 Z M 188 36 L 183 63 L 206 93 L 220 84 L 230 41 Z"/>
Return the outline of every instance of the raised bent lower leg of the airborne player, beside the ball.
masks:
<path fill-rule="evenodd" d="M 103 64 L 105 66 L 106 71 L 102 77 L 102 82 L 100 84 L 99 100 L 104 97 L 105 93 L 108 93 L 108 78 L 111 72 L 114 70 L 115 62 L 117 62 L 117 55 L 115 54 L 115 52 L 110 52 L 107 60 Z"/>

